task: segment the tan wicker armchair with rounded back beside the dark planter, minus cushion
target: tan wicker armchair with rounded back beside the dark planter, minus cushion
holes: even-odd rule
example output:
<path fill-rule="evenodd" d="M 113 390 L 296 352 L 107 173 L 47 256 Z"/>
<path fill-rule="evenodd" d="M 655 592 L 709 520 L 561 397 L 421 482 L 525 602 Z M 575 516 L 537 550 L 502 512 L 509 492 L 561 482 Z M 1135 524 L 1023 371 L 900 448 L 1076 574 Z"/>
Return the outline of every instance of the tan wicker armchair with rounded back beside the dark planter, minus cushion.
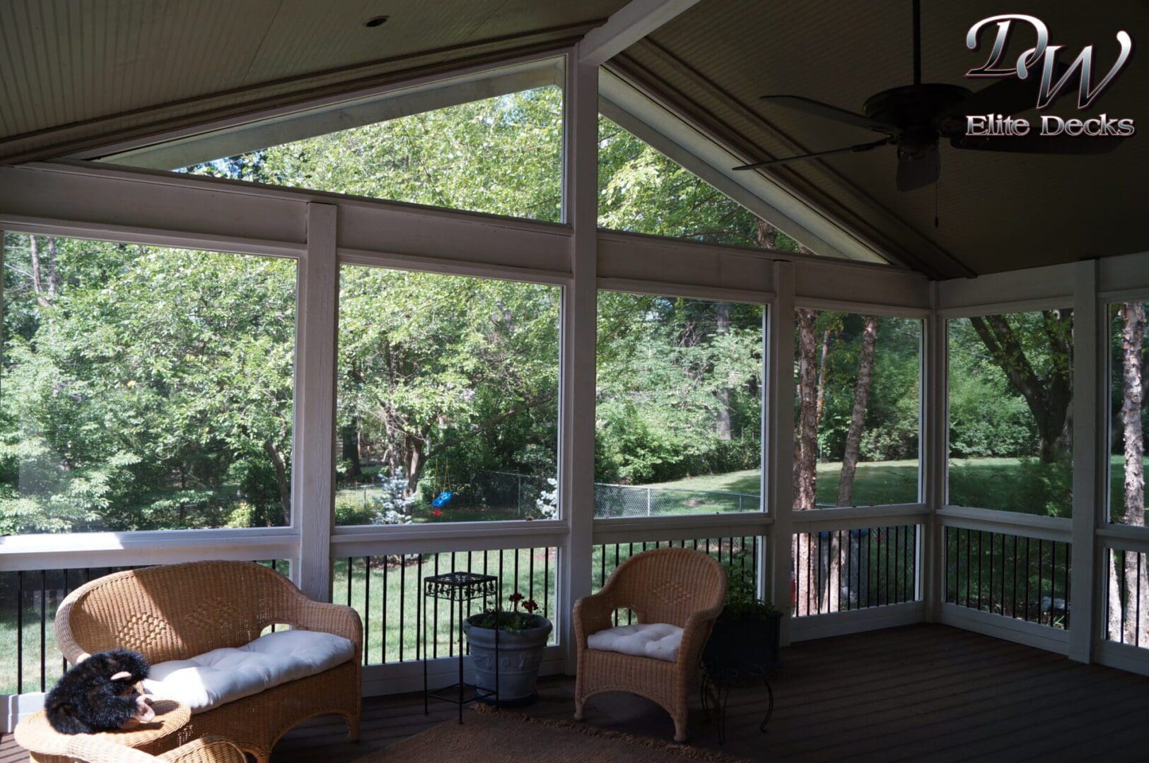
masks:
<path fill-rule="evenodd" d="M 688 548 L 656 548 L 618 566 L 602 591 L 574 605 L 578 675 L 574 718 L 602 692 L 631 692 L 661 704 L 674 721 L 674 741 L 686 741 L 687 698 L 699 686 L 699 661 L 726 599 L 726 573 L 712 556 Z M 587 638 L 611 628 L 617 609 L 639 623 L 683 629 L 678 661 L 668 662 L 587 648 Z"/>

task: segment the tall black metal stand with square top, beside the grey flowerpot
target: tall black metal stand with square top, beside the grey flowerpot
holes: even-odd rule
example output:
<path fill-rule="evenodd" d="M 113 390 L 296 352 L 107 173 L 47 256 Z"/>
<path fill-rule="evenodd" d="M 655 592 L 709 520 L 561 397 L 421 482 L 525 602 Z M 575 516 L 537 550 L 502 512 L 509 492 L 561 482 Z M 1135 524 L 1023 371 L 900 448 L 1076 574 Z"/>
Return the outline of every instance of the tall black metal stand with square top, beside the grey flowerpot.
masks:
<path fill-rule="evenodd" d="M 427 599 L 442 599 L 453 605 L 458 605 L 458 682 L 449 686 L 444 686 L 432 691 L 427 684 Z M 478 575 L 476 573 L 446 573 L 444 575 L 431 575 L 423 578 L 423 617 L 422 633 L 416 633 L 416 639 L 423 645 L 423 715 L 431 711 L 430 701 L 432 698 L 454 702 L 458 706 L 458 722 L 463 723 L 463 706 L 468 702 L 483 700 L 493 696 L 495 707 L 499 707 L 499 630 L 495 630 L 495 687 L 494 690 L 479 688 L 476 684 L 468 684 L 463 679 L 463 605 L 468 601 L 483 600 L 483 609 L 486 610 L 488 602 L 493 599 L 495 610 L 499 609 L 499 578 L 494 575 Z M 498 617 L 498 615 L 495 615 Z M 498 621 L 496 621 L 498 622 Z M 438 632 L 435 638 L 438 638 Z M 455 696 L 455 692 L 458 692 Z"/>

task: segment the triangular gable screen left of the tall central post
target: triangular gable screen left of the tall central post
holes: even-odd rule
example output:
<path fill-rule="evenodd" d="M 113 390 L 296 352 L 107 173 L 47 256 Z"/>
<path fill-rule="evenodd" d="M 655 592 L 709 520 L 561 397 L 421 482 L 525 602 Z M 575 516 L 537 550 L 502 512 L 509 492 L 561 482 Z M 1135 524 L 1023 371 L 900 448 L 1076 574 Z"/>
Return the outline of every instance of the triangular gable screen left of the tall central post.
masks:
<path fill-rule="evenodd" d="M 557 221 L 562 78 L 532 62 L 102 161 Z"/>

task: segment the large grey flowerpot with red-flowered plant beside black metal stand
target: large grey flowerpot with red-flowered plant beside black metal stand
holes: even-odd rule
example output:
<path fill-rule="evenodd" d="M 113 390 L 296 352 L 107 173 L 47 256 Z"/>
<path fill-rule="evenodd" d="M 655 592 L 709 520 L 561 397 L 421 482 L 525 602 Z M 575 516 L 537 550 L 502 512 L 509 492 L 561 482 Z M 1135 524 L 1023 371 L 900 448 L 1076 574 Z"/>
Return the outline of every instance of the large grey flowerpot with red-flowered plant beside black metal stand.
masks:
<path fill-rule="evenodd" d="M 522 593 L 512 593 L 514 609 L 471 615 L 463 623 L 471 661 L 475 664 L 475 685 L 484 691 L 495 688 L 495 629 L 499 632 L 499 704 L 529 704 L 538 699 L 534 682 L 542 664 L 553 625 L 535 614 L 539 605 L 524 601 Z"/>

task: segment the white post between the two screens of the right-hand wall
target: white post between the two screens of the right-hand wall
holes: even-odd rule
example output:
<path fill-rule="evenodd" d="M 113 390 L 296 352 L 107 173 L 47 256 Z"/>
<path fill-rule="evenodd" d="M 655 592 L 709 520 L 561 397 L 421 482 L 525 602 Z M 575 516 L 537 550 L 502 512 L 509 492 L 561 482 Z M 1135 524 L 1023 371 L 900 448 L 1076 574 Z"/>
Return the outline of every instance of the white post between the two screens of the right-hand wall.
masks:
<path fill-rule="evenodd" d="M 1097 623 L 1101 622 L 1100 590 L 1105 577 L 1097 554 L 1097 517 L 1104 516 L 1108 457 L 1108 342 L 1105 322 L 1097 301 L 1097 260 L 1073 266 L 1073 551 L 1070 577 L 1069 657 L 1093 660 Z M 1098 478 L 1100 477 L 1100 478 Z"/>

